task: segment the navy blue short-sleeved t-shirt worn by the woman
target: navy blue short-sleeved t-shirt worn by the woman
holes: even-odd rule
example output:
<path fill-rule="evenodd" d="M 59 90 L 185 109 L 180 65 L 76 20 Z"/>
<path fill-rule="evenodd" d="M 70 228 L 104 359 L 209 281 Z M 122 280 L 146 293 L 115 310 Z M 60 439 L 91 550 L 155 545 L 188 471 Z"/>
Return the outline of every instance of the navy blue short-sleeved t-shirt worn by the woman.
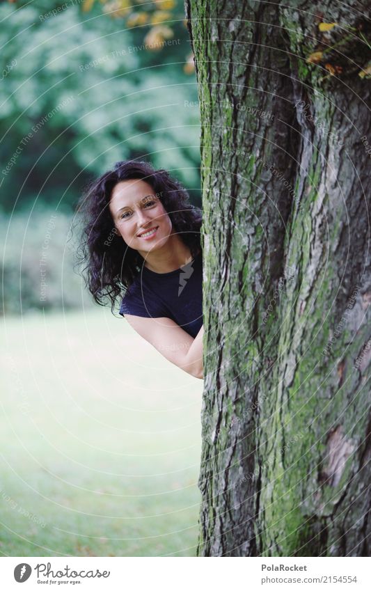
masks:
<path fill-rule="evenodd" d="M 124 314 L 171 318 L 195 338 L 203 325 L 202 252 L 170 273 L 142 267 L 121 302 L 120 315 Z"/>

